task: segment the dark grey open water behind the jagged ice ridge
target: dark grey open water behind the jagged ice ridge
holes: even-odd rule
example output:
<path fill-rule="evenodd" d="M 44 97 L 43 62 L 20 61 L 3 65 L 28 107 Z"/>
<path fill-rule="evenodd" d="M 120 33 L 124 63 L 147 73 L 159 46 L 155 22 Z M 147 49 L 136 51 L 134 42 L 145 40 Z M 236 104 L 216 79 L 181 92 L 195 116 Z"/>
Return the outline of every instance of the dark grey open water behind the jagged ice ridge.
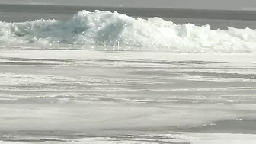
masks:
<path fill-rule="evenodd" d="M 0 5 L 0 21 L 21 22 L 35 19 L 66 21 L 78 11 L 117 11 L 134 18 L 160 17 L 175 24 L 210 24 L 212 29 L 256 28 L 256 11 L 193 10 L 171 8 L 123 8 L 63 5 Z"/>

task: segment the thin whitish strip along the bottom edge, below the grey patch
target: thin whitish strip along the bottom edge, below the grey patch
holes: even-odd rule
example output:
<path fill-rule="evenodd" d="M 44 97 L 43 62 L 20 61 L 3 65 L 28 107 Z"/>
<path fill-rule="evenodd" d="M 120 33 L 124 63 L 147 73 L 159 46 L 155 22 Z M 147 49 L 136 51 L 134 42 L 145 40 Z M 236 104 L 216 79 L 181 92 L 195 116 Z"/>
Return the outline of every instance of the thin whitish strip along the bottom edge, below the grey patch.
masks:
<path fill-rule="evenodd" d="M 231 134 L 231 133 L 172 133 L 172 134 L 146 134 L 115 137 L 85 137 L 80 139 L 53 139 L 53 138 L 27 138 L 21 139 L 21 142 L 0 141 L 0 144 L 27 144 L 33 143 L 51 143 L 51 144 L 151 144 L 151 143 L 191 143 L 191 144 L 252 144 L 256 141 L 256 136 L 251 134 Z M 43 142 L 42 142 L 43 141 Z"/>

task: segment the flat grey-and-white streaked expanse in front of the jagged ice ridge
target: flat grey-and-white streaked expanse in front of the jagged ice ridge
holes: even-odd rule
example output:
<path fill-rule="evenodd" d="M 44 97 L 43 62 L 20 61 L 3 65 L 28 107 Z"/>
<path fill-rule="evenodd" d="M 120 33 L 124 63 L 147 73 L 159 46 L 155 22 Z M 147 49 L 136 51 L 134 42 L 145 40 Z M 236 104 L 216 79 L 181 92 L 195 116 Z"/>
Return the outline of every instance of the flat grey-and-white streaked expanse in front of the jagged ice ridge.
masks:
<path fill-rule="evenodd" d="M 0 59 L 5 142 L 208 143 L 204 133 L 234 133 L 213 134 L 220 142 L 255 133 L 254 54 L 2 49 Z"/>

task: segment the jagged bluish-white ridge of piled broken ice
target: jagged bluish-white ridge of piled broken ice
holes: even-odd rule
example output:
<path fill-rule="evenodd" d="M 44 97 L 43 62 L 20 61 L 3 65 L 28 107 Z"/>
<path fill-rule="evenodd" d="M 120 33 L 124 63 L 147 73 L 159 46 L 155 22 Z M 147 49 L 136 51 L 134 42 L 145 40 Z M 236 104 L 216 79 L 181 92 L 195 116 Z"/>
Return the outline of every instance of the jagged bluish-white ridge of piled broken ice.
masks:
<path fill-rule="evenodd" d="M 110 11 L 80 11 L 69 21 L 0 22 L 0 43 L 67 43 L 96 46 L 256 51 L 256 30 L 211 30 L 162 18 L 132 18 Z"/>

